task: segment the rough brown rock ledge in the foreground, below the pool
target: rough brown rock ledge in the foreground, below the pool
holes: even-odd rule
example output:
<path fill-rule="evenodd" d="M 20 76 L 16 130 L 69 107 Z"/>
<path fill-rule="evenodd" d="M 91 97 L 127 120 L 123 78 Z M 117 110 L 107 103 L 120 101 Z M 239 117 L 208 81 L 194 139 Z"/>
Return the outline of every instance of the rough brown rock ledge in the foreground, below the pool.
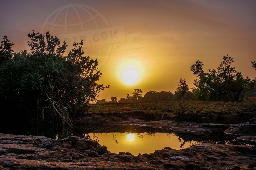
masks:
<path fill-rule="evenodd" d="M 76 136 L 55 140 L 0 133 L 2 169 L 249 170 L 256 169 L 256 146 L 198 144 L 134 156 L 129 152 L 111 153 L 94 140 Z"/>

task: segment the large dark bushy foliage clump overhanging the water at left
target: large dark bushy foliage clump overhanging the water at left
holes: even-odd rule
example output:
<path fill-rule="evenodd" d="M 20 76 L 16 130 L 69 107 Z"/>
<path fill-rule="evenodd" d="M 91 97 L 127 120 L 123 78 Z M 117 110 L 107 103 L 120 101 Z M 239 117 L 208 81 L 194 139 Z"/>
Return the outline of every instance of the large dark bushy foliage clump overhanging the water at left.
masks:
<path fill-rule="evenodd" d="M 28 37 L 30 54 L 14 53 L 14 44 L 6 36 L 2 41 L 2 109 L 9 110 L 9 118 L 72 125 L 75 113 L 88 109 L 89 101 L 96 101 L 97 93 L 109 87 L 97 83 L 101 77 L 97 59 L 84 56 L 83 41 L 74 43 L 72 51 L 64 56 L 66 43 L 60 45 L 59 39 L 49 32 L 46 42 L 39 32 L 33 31 Z"/>

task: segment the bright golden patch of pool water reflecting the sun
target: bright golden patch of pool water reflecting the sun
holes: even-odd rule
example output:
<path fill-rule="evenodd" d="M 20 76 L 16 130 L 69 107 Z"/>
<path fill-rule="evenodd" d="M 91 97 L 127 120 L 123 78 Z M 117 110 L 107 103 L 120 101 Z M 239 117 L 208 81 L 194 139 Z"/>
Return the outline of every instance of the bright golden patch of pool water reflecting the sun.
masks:
<path fill-rule="evenodd" d="M 89 133 L 85 136 L 107 146 L 111 153 L 123 151 L 133 155 L 152 153 L 166 146 L 180 150 L 198 144 L 193 140 L 184 142 L 173 133 Z"/>

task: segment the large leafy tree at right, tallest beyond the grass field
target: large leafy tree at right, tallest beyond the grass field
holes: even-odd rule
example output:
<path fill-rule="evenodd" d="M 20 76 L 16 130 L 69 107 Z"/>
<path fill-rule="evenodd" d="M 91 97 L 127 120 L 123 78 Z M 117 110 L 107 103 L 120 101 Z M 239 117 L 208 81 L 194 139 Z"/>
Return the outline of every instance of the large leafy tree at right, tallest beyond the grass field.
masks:
<path fill-rule="evenodd" d="M 217 70 L 208 69 L 209 73 L 203 71 L 203 63 L 199 60 L 191 65 L 191 71 L 198 77 L 194 80 L 194 95 L 198 99 L 211 101 L 243 100 L 244 93 L 254 87 L 255 81 L 243 78 L 242 73 L 231 66 L 233 62 L 233 58 L 223 56 Z"/>

